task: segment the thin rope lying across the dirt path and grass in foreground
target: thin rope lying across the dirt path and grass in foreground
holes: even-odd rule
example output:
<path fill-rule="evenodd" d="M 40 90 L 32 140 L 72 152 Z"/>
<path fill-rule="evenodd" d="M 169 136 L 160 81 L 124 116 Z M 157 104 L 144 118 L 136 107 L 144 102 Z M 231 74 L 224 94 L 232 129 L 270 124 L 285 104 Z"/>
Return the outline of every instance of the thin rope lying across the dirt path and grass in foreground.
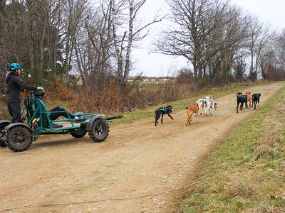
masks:
<path fill-rule="evenodd" d="M 249 168 L 242 168 L 242 169 L 239 169 L 239 170 L 249 170 L 249 169 L 253 169 L 253 168 L 258 168 L 258 167 L 261 167 L 261 166 L 264 166 L 264 165 L 269 165 L 270 163 L 276 163 L 280 160 L 285 160 L 285 157 L 284 158 L 280 158 L 278 160 L 273 160 L 273 161 L 270 161 L 268 163 L 263 163 L 263 164 L 259 164 L 259 165 L 255 165 L 253 167 L 249 167 Z M 229 173 L 232 173 L 234 172 L 234 170 L 231 170 L 229 171 Z M 226 172 L 224 172 L 226 173 Z M 131 199 L 136 199 L 136 198 L 142 198 L 142 197 L 151 197 L 151 196 L 155 196 L 155 195 L 161 195 L 161 194 L 167 194 L 167 193 L 170 193 L 170 192 L 175 192 L 175 191 L 179 191 L 179 190 L 184 190 L 186 189 L 187 187 L 190 187 L 192 185 L 197 185 L 199 182 L 204 182 L 206 180 L 210 180 L 214 178 L 214 176 L 210 177 L 210 178 L 204 178 L 202 180 L 199 180 L 197 182 L 193 182 L 191 183 L 190 185 L 186 185 L 184 187 L 178 187 L 178 188 L 175 188 L 173 190 L 167 190 L 167 191 L 164 191 L 164 192 L 156 192 L 156 193 L 152 193 L 152 194 L 147 194 L 147 195 L 138 195 L 138 196 L 135 196 L 135 197 L 121 197 L 121 198 L 110 198 L 110 199 L 102 199 L 102 200 L 87 200 L 87 201 L 80 201 L 80 202 L 68 202 L 68 203 L 54 203 L 54 204 L 41 204 L 41 205 L 31 205 L 31 204 L 25 204 L 21 207 L 10 207 L 10 208 L 6 208 L 6 209 L 2 209 L 0 210 L 0 212 L 6 212 L 6 211 L 10 211 L 10 210 L 14 210 L 14 209 L 24 209 L 24 208 L 36 208 L 36 207 L 52 207 L 52 206 L 62 206 L 62 205 L 71 205 L 71 204 L 85 204 L 85 203 L 90 203 L 90 202 L 104 202 L 104 201 L 116 201 L 116 200 L 131 200 Z"/>

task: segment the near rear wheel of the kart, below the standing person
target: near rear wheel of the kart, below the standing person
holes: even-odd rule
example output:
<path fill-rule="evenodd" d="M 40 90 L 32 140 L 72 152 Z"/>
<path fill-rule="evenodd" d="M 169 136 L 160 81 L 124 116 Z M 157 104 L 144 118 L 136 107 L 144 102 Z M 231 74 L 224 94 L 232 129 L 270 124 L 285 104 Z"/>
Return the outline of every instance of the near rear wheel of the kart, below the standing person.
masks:
<path fill-rule="evenodd" d="M 19 125 L 11 127 L 6 133 L 6 146 L 14 152 L 25 151 L 31 146 L 33 136 L 22 137 L 28 136 L 31 133 L 31 129 L 28 129 L 27 126 Z"/>

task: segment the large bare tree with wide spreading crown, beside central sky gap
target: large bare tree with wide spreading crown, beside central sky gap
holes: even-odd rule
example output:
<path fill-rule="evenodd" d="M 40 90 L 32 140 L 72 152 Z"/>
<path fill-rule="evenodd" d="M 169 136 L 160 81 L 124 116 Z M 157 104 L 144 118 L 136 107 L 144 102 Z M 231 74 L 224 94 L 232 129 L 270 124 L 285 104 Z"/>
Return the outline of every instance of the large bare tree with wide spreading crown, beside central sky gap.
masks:
<path fill-rule="evenodd" d="M 226 56 L 226 51 L 222 53 L 222 50 L 227 53 L 235 50 L 247 36 L 244 18 L 239 10 L 229 5 L 229 1 L 171 0 L 168 4 L 175 27 L 164 33 L 157 48 L 160 53 L 181 55 L 190 60 L 196 79 L 206 74 L 207 65 L 209 75 L 212 75 L 214 70 L 210 66 L 214 62 L 211 58 L 216 58 L 217 62 L 219 53 L 222 62 Z"/>

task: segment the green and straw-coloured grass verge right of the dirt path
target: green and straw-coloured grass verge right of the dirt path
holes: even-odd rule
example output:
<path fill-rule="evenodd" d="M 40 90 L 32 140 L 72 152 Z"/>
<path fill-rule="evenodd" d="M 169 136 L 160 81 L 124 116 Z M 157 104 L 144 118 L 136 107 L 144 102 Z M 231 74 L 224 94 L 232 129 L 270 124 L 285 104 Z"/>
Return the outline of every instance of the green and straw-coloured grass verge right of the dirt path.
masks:
<path fill-rule="evenodd" d="M 177 212 L 283 212 L 285 160 L 269 162 L 284 157 L 285 87 L 200 163 L 190 182 L 214 178 L 178 195 Z"/>

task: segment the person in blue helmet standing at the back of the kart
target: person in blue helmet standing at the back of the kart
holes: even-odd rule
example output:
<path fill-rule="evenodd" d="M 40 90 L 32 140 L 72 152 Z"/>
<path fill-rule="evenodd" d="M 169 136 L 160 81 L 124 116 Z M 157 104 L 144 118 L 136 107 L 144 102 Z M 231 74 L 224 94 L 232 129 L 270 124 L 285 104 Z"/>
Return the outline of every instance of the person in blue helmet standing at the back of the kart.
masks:
<path fill-rule="evenodd" d="M 21 91 L 23 91 L 23 89 L 39 91 L 43 90 L 43 87 L 33 87 L 24 83 L 19 77 L 21 74 L 21 66 L 19 64 L 11 63 L 9 69 L 11 72 L 6 78 L 7 107 L 9 114 L 12 116 L 11 123 L 22 122 Z"/>

